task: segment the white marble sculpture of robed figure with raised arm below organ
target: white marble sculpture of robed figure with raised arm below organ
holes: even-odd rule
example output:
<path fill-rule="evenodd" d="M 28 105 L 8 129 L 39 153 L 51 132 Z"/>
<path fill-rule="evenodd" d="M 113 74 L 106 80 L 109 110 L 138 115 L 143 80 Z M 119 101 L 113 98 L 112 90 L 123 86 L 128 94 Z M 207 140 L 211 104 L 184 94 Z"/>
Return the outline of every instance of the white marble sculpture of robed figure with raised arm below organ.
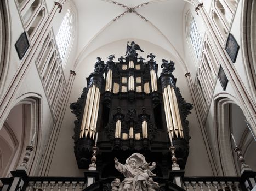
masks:
<path fill-rule="evenodd" d="M 140 153 L 134 153 L 126 159 L 123 165 L 114 158 L 116 169 L 120 171 L 124 177 L 118 191 L 155 191 L 159 189 L 158 183 L 153 182 L 152 176 L 156 176 L 151 172 L 155 169 L 156 163 L 152 165 L 146 162 L 145 157 Z"/>

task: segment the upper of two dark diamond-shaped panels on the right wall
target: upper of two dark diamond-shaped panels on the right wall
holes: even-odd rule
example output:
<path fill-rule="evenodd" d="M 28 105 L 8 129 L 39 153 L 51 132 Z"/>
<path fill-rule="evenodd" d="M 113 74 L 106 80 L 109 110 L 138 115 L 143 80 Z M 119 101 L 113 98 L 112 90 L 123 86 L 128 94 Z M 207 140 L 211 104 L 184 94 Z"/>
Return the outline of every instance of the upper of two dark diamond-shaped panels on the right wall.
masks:
<path fill-rule="evenodd" d="M 229 33 L 229 37 L 227 38 L 226 43 L 226 51 L 229 54 L 229 57 L 231 58 L 232 62 L 236 62 L 236 57 L 239 50 L 239 45 L 237 44 L 236 39 L 233 37 L 232 34 Z"/>

